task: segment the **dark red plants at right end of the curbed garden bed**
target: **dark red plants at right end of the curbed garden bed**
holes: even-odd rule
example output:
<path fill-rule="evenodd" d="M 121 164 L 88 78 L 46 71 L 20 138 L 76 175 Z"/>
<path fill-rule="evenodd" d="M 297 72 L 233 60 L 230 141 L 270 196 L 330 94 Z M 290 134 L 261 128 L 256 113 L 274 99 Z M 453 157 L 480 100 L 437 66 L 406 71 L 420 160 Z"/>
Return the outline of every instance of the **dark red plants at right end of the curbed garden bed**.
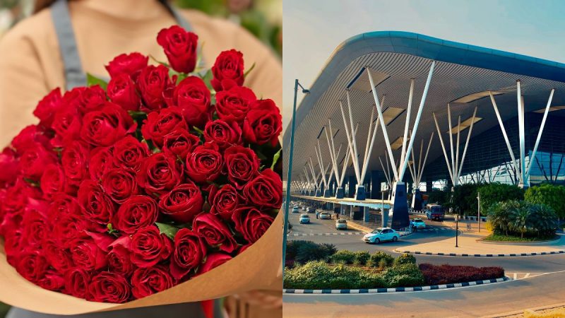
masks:
<path fill-rule="evenodd" d="M 448 264 L 420 264 L 420 271 L 424 274 L 427 285 L 483 281 L 485 279 L 501 278 L 504 276 L 504 269 L 498 266 L 475 267 L 453 266 Z"/>

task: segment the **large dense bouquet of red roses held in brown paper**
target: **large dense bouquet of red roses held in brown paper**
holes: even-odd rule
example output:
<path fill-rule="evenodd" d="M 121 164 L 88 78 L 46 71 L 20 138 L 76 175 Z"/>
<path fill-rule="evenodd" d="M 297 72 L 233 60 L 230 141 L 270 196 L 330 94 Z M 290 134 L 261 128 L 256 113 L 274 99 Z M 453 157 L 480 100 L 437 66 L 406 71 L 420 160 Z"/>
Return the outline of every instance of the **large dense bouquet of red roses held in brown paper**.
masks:
<path fill-rule="evenodd" d="M 242 53 L 198 69 L 197 41 L 172 26 L 157 35 L 168 64 L 121 54 L 106 66 L 109 83 L 88 76 L 87 87 L 52 90 L 34 111 L 39 124 L 4 148 L 0 236 L 21 277 L 74 298 L 131 302 L 197 281 L 267 232 L 282 204 L 280 111 L 243 86 Z M 233 283 L 225 277 L 254 264 L 238 266 L 218 277 Z M 2 285 L 15 277 L 2 267 Z M 183 293 L 138 304 L 223 291 Z"/>

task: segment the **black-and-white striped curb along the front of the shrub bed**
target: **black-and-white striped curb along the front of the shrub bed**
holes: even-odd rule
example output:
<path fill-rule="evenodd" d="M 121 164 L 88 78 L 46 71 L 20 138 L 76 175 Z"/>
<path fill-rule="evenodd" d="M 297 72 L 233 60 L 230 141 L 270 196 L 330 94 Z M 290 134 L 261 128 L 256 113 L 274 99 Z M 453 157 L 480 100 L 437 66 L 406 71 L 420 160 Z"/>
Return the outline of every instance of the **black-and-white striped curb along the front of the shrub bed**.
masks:
<path fill-rule="evenodd" d="M 444 285 L 429 285 L 417 287 L 396 287 L 396 288 L 373 288 L 373 289 L 291 289 L 284 288 L 284 294 L 381 294 L 381 293 L 404 293 L 425 290 L 439 290 L 447 288 L 459 288 L 474 285 L 485 285 L 489 283 L 501 283 L 503 281 L 511 281 L 510 278 L 504 276 L 502 278 L 486 279 L 484 281 L 470 281 L 466 283 L 452 283 Z"/>

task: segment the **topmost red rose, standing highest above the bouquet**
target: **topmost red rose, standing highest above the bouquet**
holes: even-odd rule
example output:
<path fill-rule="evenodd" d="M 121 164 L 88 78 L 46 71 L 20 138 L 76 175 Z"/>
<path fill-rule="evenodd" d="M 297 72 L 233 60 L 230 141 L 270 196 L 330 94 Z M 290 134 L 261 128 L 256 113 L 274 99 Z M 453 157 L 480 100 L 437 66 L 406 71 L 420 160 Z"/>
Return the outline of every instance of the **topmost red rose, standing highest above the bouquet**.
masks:
<path fill-rule="evenodd" d="M 165 50 L 172 69 L 179 73 L 191 73 L 196 66 L 198 36 L 186 32 L 179 25 L 160 30 L 157 43 Z"/>

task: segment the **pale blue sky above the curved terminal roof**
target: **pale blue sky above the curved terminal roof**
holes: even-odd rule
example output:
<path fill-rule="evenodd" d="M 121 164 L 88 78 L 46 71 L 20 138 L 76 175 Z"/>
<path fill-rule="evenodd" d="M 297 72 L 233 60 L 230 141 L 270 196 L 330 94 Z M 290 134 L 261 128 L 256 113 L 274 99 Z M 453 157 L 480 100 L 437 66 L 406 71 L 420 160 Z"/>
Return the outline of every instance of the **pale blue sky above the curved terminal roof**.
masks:
<path fill-rule="evenodd" d="M 284 125 L 295 78 L 311 86 L 333 49 L 353 35 L 410 31 L 565 62 L 564 13 L 563 0 L 284 0 Z"/>

